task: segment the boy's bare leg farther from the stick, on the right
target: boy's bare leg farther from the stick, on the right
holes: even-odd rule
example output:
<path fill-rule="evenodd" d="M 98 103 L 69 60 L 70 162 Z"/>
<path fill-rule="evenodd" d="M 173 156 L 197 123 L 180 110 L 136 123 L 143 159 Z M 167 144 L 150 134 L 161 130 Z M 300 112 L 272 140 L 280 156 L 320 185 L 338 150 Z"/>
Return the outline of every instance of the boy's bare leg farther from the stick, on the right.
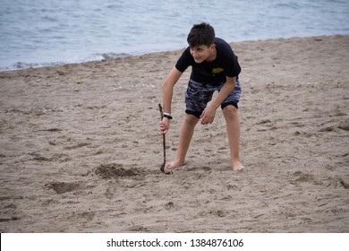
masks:
<path fill-rule="evenodd" d="M 229 105 L 223 108 L 223 114 L 226 118 L 226 134 L 228 135 L 230 155 L 234 170 L 243 169 L 240 162 L 239 145 L 240 145 L 240 117 L 239 111 L 234 106 Z"/>

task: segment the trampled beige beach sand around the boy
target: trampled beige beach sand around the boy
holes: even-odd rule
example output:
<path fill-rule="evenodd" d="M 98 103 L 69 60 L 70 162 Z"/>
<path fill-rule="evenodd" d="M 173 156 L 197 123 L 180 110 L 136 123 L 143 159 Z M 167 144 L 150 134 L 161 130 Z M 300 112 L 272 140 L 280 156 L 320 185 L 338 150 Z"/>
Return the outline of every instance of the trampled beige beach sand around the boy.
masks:
<path fill-rule="evenodd" d="M 183 49 L 0 73 L 1 232 L 348 232 L 349 36 L 232 47 L 241 172 L 220 110 L 197 126 L 186 166 L 159 170 L 157 104 Z"/>

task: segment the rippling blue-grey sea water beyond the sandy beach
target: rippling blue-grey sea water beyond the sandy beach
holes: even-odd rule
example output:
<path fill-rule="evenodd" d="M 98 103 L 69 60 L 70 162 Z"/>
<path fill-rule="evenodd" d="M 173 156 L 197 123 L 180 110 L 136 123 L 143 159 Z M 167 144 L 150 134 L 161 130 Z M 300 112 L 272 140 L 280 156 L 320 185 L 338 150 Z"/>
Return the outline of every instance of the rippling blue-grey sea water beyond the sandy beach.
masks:
<path fill-rule="evenodd" d="M 0 71 L 227 42 L 349 34 L 349 0 L 0 0 Z"/>

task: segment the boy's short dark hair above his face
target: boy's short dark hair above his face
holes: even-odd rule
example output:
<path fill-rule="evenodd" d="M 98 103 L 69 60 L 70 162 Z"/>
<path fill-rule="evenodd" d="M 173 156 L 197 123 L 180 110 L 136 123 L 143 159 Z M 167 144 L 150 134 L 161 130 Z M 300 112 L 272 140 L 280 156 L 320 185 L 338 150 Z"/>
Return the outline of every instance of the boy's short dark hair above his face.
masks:
<path fill-rule="evenodd" d="M 209 23 L 201 22 L 192 26 L 187 41 L 191 48 L 201 45 L 209 47 L 215 43 L 215 37 L 215 29 Z"/>

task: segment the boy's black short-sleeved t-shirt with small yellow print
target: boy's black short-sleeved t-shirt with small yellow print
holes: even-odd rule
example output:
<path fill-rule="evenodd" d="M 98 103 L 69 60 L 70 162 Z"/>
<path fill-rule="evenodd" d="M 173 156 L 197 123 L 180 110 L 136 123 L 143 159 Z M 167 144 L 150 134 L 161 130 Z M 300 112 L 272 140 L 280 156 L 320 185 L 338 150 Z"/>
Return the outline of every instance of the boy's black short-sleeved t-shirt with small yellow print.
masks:
<path fill-rule="evenodd" d="M 192 65 L 191 79 L 196 82 L 218 84 L 226 82 L 226 76 L 237 77 L 241 67 L 234 55 L 233 49 L 223 39 L 215 39 L 217 56 L 214 61 L 195 63 L 190 48 L 186 48 L 178 59 L 175 68 L 183 73 L 189 65 Z"/>

